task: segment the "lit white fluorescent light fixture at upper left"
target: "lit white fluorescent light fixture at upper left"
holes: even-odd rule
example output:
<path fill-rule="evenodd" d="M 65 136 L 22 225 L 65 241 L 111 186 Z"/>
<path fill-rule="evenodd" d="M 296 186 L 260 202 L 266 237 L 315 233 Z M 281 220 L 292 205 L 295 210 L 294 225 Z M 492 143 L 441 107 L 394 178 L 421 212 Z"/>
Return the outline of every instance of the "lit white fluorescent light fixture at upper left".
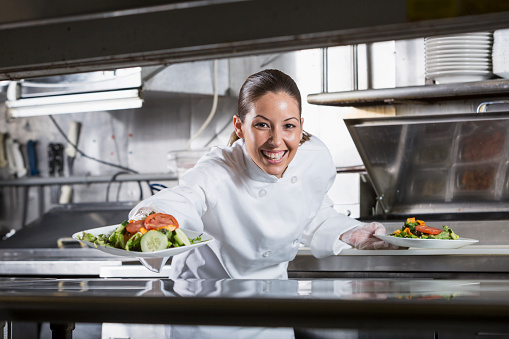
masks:
<path fill-rule="evenodd" d="M 10 88 L 5 104 L 12 117 L 140 108 L 143 103 L 141 88 L 26 99 L 16 99 L 16 94 L 9 92 Z"/>

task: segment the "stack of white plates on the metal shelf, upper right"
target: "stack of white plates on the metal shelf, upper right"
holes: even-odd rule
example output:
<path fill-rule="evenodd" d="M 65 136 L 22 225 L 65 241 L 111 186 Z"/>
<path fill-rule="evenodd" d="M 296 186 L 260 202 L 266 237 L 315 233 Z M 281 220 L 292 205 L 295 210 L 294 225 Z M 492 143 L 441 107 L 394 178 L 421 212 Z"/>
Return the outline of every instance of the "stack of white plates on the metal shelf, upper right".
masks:
<path fill-rule="evenodd" d="M 478 32 L 424 39 L 426 78 L 436 83 L 489 79 L 493 76 L 493 33 Z"/>

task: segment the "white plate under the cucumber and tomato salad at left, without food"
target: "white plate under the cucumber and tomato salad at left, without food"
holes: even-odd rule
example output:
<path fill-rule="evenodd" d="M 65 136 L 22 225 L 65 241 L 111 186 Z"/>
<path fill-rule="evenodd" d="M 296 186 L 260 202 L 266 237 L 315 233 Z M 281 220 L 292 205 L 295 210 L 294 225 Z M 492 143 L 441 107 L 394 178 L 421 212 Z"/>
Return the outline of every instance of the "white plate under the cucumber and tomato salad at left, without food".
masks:
<path fill-rule="evenodd" d="M 168 257 L 172 257 L 174 255 L 180 254 L 180 253 L 190 251 L 194 248 L 209 244 L 212 241 L 214 241 L 214 237 L 212 237 L 211 235 L 208 235 L 206 233 L 198 233 L 198 232 L 182 229 L 182 231 L 184 231 L 184 233 L 187 235 L 187 237 L 189 239 L 194 239 L 201 234 L 201 239 L 203 241 L 196 243 L 196 244 L 192 244 L 191 246 L 168 248 L 167 250 L 156 251 L 156 252 L 136 252 L 136 251 L 126 251 L 126 250 L 122 250 L 120 248 L 96 246 L 94 243 L 91 243 L 90 241 L 84 241 L 84 240 L 80 240 L 78 238 L 78 236 L 81 236 L 81 234 L 83 234 L 83 232 L 91 233 L 91 234 L 95 235 L 96 237 L 100 234 L 111 234 L 118 226 L 119 226 L 119 224 L 111 225 L 111 226 L 104 226 L 104 227 L 99 227 L 99 228 L 92 228 L 89 230 L 76 232 L 72 235 L 72 238 L 86 244 L 87 246 L 90 246 L 92 248 L 97 248 L 100 251 L 103 251 L 103 252 L 106 252 L 109 254 L 119 255 L 122 257 L 131 257 L 131 258 L 168 258 Z"/>

